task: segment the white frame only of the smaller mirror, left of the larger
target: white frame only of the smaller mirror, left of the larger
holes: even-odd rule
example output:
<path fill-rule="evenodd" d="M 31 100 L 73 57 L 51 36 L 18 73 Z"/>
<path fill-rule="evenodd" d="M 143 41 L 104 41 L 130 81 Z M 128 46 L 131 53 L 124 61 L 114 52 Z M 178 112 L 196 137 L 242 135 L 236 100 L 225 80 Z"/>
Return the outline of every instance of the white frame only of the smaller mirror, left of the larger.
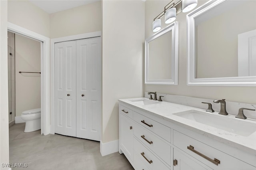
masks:
<path fill-rule="evenodd" d="M 148 43 L 162 36 L 163 34 L 172 31 L 172 79 L 166 80 L 149 80 L 148 79 Z M 159 68 L 161 69 L 161 68 Z M 170 26 L 164 28 L 160 32 L 145 40 L 145 84 L 151 85 L 178 85 L 178 22 L 172 23 Z"/>

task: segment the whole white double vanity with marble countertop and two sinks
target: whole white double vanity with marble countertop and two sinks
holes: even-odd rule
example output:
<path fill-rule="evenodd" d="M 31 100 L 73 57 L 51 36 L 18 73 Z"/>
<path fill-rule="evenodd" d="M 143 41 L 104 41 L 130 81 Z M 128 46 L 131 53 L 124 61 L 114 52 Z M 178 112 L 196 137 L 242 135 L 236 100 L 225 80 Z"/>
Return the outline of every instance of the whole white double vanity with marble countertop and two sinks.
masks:
<path fill-rule="evenodd" d="M 206 109 L 120 99 L 120 154 L 135 170 L 256 170 L 256 121 Z"/>

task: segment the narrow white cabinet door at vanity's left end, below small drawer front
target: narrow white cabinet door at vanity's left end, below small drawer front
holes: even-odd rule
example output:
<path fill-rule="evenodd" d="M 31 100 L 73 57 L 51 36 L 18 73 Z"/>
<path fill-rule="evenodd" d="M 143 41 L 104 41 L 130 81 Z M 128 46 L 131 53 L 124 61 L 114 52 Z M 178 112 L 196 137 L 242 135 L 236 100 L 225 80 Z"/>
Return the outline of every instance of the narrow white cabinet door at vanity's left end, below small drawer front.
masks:
<path fill-rule="evenodd" d="M 122 114 L 119 114 L 119 117 L 120 147 L 125 156 L 128 156 L 133 161 L 133 123 L 131 119 Z"/>

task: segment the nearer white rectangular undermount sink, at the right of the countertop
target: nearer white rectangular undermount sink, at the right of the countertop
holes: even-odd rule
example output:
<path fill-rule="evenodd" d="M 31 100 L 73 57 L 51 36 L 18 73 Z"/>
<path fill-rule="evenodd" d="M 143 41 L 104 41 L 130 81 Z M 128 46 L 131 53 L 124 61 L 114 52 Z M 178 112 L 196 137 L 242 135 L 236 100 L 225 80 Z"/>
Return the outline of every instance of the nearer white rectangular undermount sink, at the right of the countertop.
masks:
<path fill-rule="evenodd" d="M 213 115 L 211 113 L 189 110 L 180 113 L 174 113 L 173 115 L 221 130 L 226 130 L 234 134 L 239 134 L 241 136 L 250 136 L 250 134 L 256 132 L 256 124 L 254 123 L 240 121 L 220 115 Z"/>

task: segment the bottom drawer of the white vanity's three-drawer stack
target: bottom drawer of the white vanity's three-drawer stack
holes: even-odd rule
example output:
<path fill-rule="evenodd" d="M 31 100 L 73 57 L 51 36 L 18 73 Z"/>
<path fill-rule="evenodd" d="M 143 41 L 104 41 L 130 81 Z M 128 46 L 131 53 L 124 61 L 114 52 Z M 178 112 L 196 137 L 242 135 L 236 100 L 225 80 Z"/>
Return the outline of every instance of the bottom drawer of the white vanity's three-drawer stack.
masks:
<path fill-rule="evenodd" d="M 152 170 L 170 170 L 163 162 L 150 152 L 143 144 L 134 138 L 134 153 L 139 155 L 141 161 Z"/>

